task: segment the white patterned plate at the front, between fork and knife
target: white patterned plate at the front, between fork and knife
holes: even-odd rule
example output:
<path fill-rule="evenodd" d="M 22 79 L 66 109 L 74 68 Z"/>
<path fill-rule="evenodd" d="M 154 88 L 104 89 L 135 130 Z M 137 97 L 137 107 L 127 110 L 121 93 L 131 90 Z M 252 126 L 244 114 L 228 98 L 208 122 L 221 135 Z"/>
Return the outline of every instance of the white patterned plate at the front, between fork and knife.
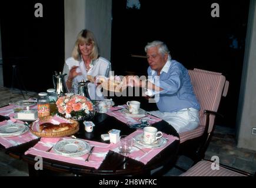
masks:
<path fill-rule="evenodd" d="M 79 157 L 89 152 L 90 146 L 80 139 L 65 139 L 57 142 L 54 152 L 66 157 Z"/>

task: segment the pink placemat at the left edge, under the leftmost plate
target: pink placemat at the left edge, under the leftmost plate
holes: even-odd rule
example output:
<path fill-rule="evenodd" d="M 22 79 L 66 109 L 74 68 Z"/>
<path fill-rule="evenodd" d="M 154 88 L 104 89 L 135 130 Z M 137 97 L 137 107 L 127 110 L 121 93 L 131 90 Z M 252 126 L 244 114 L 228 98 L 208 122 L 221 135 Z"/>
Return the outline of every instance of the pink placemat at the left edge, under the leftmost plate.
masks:
<path fill-rule="evenodd" d="M 0 126 L 9 125 L 12 123 L 24 123 L 19 120 L 13 119 L 11 117 L 10 120 L 4 120 L 0 122 Z M 28 132 L 24 133 L 23 135 L 12 136 L 12 137 L 1 137 L 0 136 L 0 144 L 3 145 L 6 149 L 12 146 L 18 146 L 26 142 L 30 142 L 31 140 L 38 139 L 37 136 L 32 134 L 29 130 Z"/>

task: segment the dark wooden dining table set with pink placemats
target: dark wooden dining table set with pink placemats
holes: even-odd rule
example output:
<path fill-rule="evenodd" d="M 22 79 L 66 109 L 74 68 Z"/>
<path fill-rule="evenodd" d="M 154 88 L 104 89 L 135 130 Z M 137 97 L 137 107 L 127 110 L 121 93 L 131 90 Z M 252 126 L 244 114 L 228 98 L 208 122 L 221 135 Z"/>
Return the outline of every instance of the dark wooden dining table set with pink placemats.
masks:
<path fill-rule="evenodd" d="M 118 112 L 119 109 L 112 110 Z M 147 113 L 147 116 L 149 114 Z M 4 150 L 9 156 L 15 157 L 16 159 L 22 159 L 28 164 L 29 176 L 44 176 L 46 174 L 76 174 L 81 176 L 139 176 L 139 175 L 161 175 L 162 169 L 170 169 L 174 166 L 179 149 L 179 135 L 177 131 L 164 120 L 158 120 L 151 124 L 161 131 L 168 142 L 166 146 L 161 149 L 147 149 L 141 147 L 134 147 L 135 153 L 139 153 L 138 156 L 127 156 L 122 155 L 116 150 L 118 143 L 110 143 L 109 140 L 102 140 L 101 135 L 106 134 L 109 130 L 119 130 L 121 135 L 136 135 L 142 133 L 142 129 L 128 126 L 127 122 L 124 122 L 114 116 L 111 113 L 95 113 L 95 116 L 90 121 L 95 125 L 92 132 L 85 130 L 83 121 L 79 122 L 79 130 L 77 133 L 72 135 L 77 139 L 85 140 L 91 146 L 95 146 L 92 151 L 94 154 L 97 152 L 97 147 L 104 147 L 105 155 L 97 165 L 87 165 L 85 160 L 79 160 L 79 163 L 69 162 L 65 160 L 70 157 L 54 158 L 54 157 L 42 157 L 42 168 L 38 170 L 35 166 L 38 164 L 36 160 L 35 152 L 36 146 L 43 143 L 44 140 L 48 139 L 45 137 L 38 137 L 29 142 L 22 143 L 18 146 L 9 147 L 5 149 L 0 144 L 0 148 Z M 0 122 L 8 119 L 8 116 L 0 116 Z M 65 137 L 71 138 L 71 137 Z M 34 149 L 34 150 L 33 150 Z M 51 150 L 51 147 L 49 147 Z M 148 153 L 151 155 L 147 156 Z M 43 152 L 44 154 L 46 151 Z M 99 152 L 100 153 L 100 152 Z M 46 153 L 48 154 L 48 153 Z M 52 156 L 56 156 L 53 150 L 50 153 Z M 88 153 L 85 155 L 87 156 Z M 44 155 L 42 155 L 44 156 Z M 93 155 L 92 155 L 93 156 Z M 93 157 L 90 157 L 93 158 Z M 145 157 L 144 157 L 145 156 Z M 63 160 L 62 160 L 63 159 Z M 75 160 L 74 160 L 75 161 Z M 77 160 L 78 161 L 78 160 Z M 88 163 L 89 164 L 89 163 Z"/>

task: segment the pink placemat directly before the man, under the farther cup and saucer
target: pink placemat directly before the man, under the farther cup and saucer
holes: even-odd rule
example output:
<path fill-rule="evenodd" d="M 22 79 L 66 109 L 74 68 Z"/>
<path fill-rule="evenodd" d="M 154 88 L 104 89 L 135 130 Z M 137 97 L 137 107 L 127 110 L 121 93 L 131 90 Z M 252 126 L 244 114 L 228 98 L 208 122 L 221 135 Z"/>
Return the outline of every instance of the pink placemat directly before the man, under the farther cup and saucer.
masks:
<path fill-rule="evenodd" d="M 117 118 L 118 120 L 120 120 L 123 123 L 127 123 L 127 122 L 131 122 L 131 123 L 134 123 L 134 124 L 135 123 L 139 123 L 139 117 L 128 117 L 128 116 L 125 116 L 121 112 L 121 109 L 123 109 L 123 108 L 127 108 L 127 105 L 112 107 L 107 112 L 107 115 L 113 116 L 113 117 Z M 158 117 L 154 117 L 154 116 L 151 116 L 151 115 L 147 115 L 146 117 L 148 117 L 148 119 L 150 120 L 151 124 L 159 122 L 159 121 L 162 120 L 162 119 L 159 119 Z"/>

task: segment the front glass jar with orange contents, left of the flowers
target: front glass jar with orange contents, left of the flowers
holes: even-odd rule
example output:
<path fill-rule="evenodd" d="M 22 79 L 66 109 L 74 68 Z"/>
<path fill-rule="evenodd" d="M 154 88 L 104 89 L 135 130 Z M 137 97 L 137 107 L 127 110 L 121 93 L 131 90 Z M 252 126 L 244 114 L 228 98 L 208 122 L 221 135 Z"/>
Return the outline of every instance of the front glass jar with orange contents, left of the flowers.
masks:
<path fill-rule="evenodd" d="M 37 100 L 37 112 L 38 117 L 44 117 L 50 115 L 50 104 L 47 97 L 47 93 L 38 93 L 39 99 Z"/>

